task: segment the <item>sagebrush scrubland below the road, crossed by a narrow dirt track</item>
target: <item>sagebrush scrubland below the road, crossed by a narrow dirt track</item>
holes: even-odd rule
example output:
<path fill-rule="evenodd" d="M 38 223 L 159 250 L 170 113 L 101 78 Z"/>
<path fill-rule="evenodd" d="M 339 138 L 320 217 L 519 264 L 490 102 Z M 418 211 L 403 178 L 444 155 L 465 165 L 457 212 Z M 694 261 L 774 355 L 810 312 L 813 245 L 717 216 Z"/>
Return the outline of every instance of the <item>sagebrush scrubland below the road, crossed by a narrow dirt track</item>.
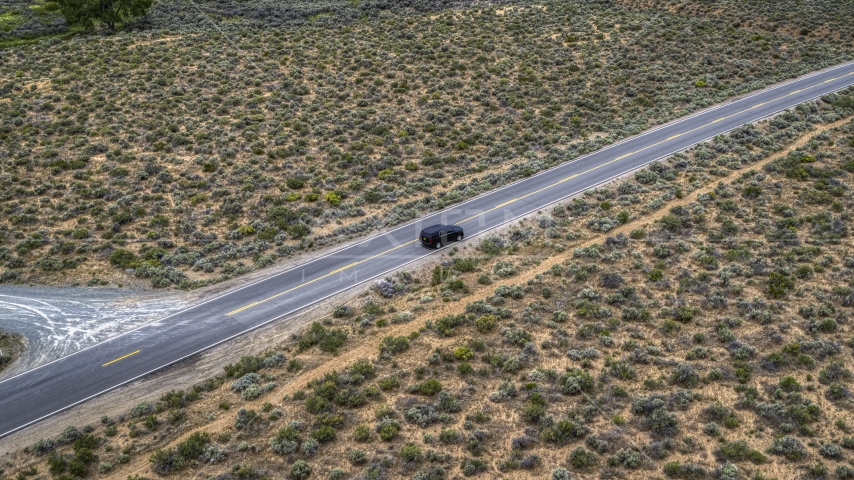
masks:
<path fill-rule="evenodd" d="M 854 478 L 851 93 L 398 272 L 0 475 Z"/>

